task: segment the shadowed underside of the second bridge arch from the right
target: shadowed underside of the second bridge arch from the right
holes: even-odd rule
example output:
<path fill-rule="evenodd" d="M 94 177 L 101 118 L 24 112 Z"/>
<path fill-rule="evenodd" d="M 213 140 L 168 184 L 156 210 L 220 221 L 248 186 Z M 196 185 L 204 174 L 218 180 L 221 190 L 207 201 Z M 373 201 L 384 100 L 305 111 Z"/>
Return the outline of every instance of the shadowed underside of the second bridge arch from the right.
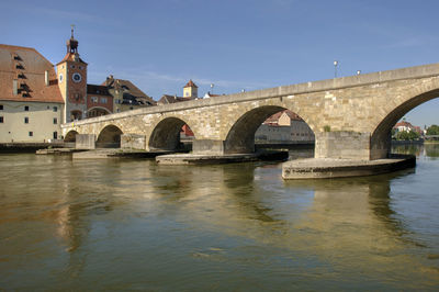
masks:
<path fill-rule="evenodd" d="M 225 154 L 255 151 L 255 133 L 271 115 L 288 109 L 279 105 L 263 105 L 243 114 L 232 126 L 224 142 Z"/>

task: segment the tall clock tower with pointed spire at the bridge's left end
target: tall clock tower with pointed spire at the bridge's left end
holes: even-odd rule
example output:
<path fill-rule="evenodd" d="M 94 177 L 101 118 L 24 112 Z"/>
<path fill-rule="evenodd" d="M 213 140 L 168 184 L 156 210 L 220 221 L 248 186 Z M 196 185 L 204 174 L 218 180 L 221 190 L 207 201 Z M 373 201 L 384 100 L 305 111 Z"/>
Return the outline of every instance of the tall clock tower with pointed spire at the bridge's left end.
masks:
<path fill-rule="evenodd" d="M 64 123 L 81 120 L 87 114 L 87 63 L 78 53 L 78 41 L 74 37 L 74 25 L 71 25 L 71 37 L 67 41 L 67 54 L 56 65 L 58 87 L 61 92 L 64 106 Z"/>

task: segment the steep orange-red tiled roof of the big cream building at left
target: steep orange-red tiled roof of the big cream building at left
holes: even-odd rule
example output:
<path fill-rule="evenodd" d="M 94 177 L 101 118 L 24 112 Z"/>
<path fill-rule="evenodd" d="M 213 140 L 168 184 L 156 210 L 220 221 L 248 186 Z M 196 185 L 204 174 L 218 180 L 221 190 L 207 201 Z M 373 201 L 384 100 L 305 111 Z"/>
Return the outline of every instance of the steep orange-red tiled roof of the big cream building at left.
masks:
<path fill-rule="evenodd" d="M 13 80 L 21 89 L 18 94 L 13 93 Z M 54 65 L 35 48 L 0 44 L 0 100 L 64 103 Z"/>

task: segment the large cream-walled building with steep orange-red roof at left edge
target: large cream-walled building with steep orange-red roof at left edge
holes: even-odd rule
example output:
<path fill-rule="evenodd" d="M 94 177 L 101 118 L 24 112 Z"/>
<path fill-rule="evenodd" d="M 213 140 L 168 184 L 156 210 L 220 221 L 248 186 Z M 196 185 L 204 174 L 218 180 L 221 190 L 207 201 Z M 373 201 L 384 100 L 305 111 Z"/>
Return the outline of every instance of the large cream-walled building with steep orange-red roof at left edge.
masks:
<path fill-rule="evenodd" d="M 31 47 L 0 45 L 0 143 L 57 139 L 65 102 L 54 65 Z"/>

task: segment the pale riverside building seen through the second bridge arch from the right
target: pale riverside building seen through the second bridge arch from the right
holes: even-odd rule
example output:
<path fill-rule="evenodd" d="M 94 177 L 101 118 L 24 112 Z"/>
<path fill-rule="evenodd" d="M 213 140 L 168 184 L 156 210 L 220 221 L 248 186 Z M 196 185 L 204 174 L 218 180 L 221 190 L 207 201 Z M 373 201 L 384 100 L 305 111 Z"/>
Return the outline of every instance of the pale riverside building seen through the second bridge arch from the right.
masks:
<path fill-rule="evenodd" d="M 297 114 L 285 110 L 268 117 L 255 133 L 257 143 L 314 143 L 314 132 Z"/>

